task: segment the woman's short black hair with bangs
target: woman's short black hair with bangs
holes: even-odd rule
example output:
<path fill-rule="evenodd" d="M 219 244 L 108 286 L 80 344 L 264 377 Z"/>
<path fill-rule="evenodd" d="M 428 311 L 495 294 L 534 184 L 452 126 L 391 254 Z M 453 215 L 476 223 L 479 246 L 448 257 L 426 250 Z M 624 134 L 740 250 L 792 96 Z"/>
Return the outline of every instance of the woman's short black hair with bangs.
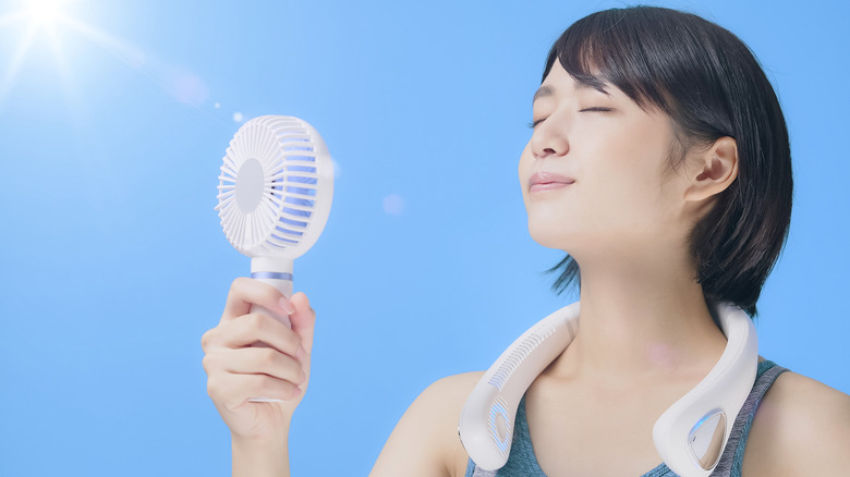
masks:
<path fill-rule="evenodd" d="M 788 129 L 770 82 L 750 49 L 697 15 L 657 7 L 593 13 L 552 45 L 555 61 L 578 82 L 611 84 L 644 109 L 668 114 L 676 132 L 670 170 L 694 146 L 720 137 L 738 145 L 738 178 L 694 227 L 689 250 L 706 302 L 731 302 L 751 317 L 788 237 L 793 180 Z M 542 82 L 543 82 L 542 80 Z M 581 288 L 567 255 L 552 289 Z"/>

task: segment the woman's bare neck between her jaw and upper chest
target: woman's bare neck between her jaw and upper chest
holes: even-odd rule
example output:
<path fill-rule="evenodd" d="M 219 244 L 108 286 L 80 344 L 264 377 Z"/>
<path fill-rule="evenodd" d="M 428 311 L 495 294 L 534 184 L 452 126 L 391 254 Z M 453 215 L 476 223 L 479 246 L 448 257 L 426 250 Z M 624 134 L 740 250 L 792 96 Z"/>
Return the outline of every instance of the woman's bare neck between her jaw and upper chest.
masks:
<path fill-rule="evenodd" d="M 726 347 L 685 260 L 581 262 L 579 333 L 552 376 L 605 387 L 702 379 Z"/>

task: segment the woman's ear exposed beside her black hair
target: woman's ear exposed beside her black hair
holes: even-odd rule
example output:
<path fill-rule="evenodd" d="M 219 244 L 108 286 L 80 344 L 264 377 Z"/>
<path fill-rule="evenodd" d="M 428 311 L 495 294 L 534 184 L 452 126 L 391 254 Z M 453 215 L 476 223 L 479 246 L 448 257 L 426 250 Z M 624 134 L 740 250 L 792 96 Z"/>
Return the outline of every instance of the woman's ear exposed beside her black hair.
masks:
<path fill-rule="evenodd" d="M 728 136 L 720 137 L 689 162 L 685 172 L 690 185 L 684 191 L 684 199 L 704 200 L 726 191 L 738 178 L 738 143 Z"/>

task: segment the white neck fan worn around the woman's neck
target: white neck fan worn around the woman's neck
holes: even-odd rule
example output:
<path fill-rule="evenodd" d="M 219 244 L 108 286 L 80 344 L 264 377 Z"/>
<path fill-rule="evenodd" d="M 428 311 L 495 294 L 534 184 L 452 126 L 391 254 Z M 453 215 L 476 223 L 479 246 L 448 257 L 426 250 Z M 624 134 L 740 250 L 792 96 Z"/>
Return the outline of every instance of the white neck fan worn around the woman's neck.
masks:
<path fill-rule="evenodd" d="M 575 302 L 529 329 L 470 393 L 458 432 L 482 469 L 496 470 L 508 461 L 520 400 L 575 338 L 579 307 Z M 713 313 L 728 340 L 726 350 L 708 375 L 653 427 L 661 460 L 683 477 L 706 477 L 717 465 L 758 368 L 758 341 L 750 317 L 729 303 L 717 304 Z"/>

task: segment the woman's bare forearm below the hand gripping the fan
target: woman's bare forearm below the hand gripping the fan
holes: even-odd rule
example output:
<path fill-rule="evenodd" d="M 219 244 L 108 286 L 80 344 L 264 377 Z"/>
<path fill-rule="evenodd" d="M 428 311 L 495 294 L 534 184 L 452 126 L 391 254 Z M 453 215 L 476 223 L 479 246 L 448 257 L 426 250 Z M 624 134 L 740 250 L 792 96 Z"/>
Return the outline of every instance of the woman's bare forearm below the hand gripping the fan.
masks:
<path fill-rule="evenodd" d="M 286 436 L 269 443 L 231 437 L 233 477 L 289 477 L 288 444 Z"/>

